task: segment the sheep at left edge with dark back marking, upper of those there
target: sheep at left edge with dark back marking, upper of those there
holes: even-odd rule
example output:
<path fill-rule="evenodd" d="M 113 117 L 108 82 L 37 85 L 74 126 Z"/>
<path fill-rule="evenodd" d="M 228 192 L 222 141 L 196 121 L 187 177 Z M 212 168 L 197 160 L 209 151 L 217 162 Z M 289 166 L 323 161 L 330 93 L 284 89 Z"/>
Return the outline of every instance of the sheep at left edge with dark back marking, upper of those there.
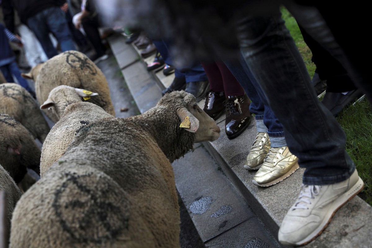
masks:
<path fill-rule="evenodd" d="M 41 143 L 50 131 L 47 120 L 36 101 L 18 84 L 0 84 L 0 113 L 7 114 L 20 122 Z"/>

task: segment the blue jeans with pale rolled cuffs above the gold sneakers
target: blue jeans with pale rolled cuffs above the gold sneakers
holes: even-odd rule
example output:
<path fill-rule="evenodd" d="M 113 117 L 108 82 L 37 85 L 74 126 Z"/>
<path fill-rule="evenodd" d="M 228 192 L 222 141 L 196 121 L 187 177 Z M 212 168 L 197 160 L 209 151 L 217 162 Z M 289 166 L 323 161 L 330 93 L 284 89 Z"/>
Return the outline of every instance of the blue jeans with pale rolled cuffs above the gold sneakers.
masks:
<path fill-rule="evenodd" d="M 283 126 L 275 117 L 271 110 L 259 83 L 254 78 L 251 70 L 243 57 L 240 62 L 232 63 L 224 61 L 234 77 L 239 81 L 241 87 L 246 91 L 247 96 L 251 99 L 249 110 L 256 119 L 257 132 L 267 132 L 270 138 L 271 147 L 286 146 L 287 142 L 284 137 Z"/>

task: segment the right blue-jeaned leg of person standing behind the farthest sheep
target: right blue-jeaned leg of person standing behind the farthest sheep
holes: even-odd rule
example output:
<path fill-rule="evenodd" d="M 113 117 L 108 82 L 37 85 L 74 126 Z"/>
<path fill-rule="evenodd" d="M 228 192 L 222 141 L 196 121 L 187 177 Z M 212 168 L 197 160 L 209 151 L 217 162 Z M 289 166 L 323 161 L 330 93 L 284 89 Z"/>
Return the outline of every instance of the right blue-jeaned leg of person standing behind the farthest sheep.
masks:
<path fill-rule="evenodd" d="M 48 30 L 53 33 L 61 46 L 62 52 L 76 50 L 70 30 L 68 29 L 65 13 L 59 7 L 43 11 Z"/>

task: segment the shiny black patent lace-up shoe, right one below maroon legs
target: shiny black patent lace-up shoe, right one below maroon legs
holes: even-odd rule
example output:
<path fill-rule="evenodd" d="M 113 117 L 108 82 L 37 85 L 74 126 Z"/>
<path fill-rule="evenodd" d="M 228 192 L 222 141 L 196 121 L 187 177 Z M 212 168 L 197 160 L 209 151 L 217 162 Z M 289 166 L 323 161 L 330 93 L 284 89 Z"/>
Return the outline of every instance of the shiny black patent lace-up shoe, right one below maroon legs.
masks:
<path fill-rule="evenodd" d="M 250 100 L 246 94 L 229 96 L 226 102 L 225 131 L 227 138 L 239 136 L 251 123 Z"/>

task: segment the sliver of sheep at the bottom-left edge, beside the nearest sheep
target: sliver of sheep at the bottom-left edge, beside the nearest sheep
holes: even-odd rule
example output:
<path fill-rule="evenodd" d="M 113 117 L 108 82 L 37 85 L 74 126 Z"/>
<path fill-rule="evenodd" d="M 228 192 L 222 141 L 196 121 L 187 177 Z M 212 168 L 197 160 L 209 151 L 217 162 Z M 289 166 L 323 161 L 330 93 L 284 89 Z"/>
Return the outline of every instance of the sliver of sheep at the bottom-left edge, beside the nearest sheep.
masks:
<path fill-rule="evenodd" d="M 6 193 L 6 220 L 5 220 L 5 230 L 10 230 L 10 220 L 12 219 L 13 209 L 16 206 L 19 198 L 21 197 L 21 191 L 17 187 L 13 178 L 0 164 L 0 192 L 4 191 Z M 1 199 L 0 199 L 1 201 Z M 8 241 L 6 241 L 6 244 Z"/>

